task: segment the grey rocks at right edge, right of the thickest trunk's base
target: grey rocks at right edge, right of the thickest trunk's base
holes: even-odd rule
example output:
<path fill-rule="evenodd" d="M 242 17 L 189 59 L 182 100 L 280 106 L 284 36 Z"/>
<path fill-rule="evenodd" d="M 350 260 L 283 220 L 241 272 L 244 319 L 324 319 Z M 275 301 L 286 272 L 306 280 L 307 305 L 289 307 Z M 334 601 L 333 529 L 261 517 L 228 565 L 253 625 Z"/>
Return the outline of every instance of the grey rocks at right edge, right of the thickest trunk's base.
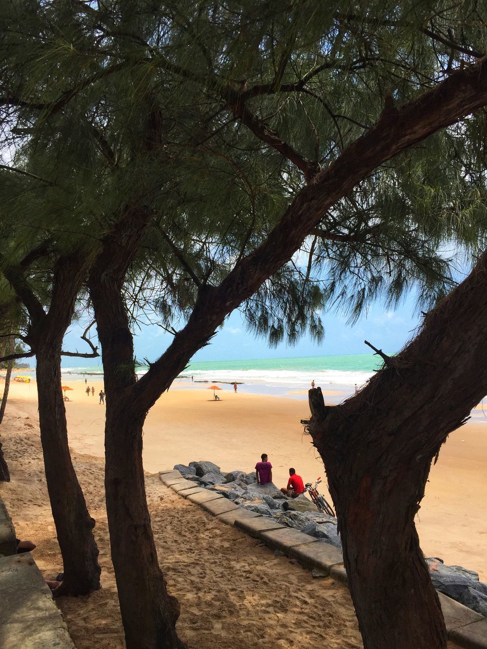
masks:
<path fill-rule="evenodd" d="M 456 602 L 487 616 L 487 583 L 479 575 L 462 566 L 445 566 L 442 559 L 426 559 L 434 587 Z"/>

